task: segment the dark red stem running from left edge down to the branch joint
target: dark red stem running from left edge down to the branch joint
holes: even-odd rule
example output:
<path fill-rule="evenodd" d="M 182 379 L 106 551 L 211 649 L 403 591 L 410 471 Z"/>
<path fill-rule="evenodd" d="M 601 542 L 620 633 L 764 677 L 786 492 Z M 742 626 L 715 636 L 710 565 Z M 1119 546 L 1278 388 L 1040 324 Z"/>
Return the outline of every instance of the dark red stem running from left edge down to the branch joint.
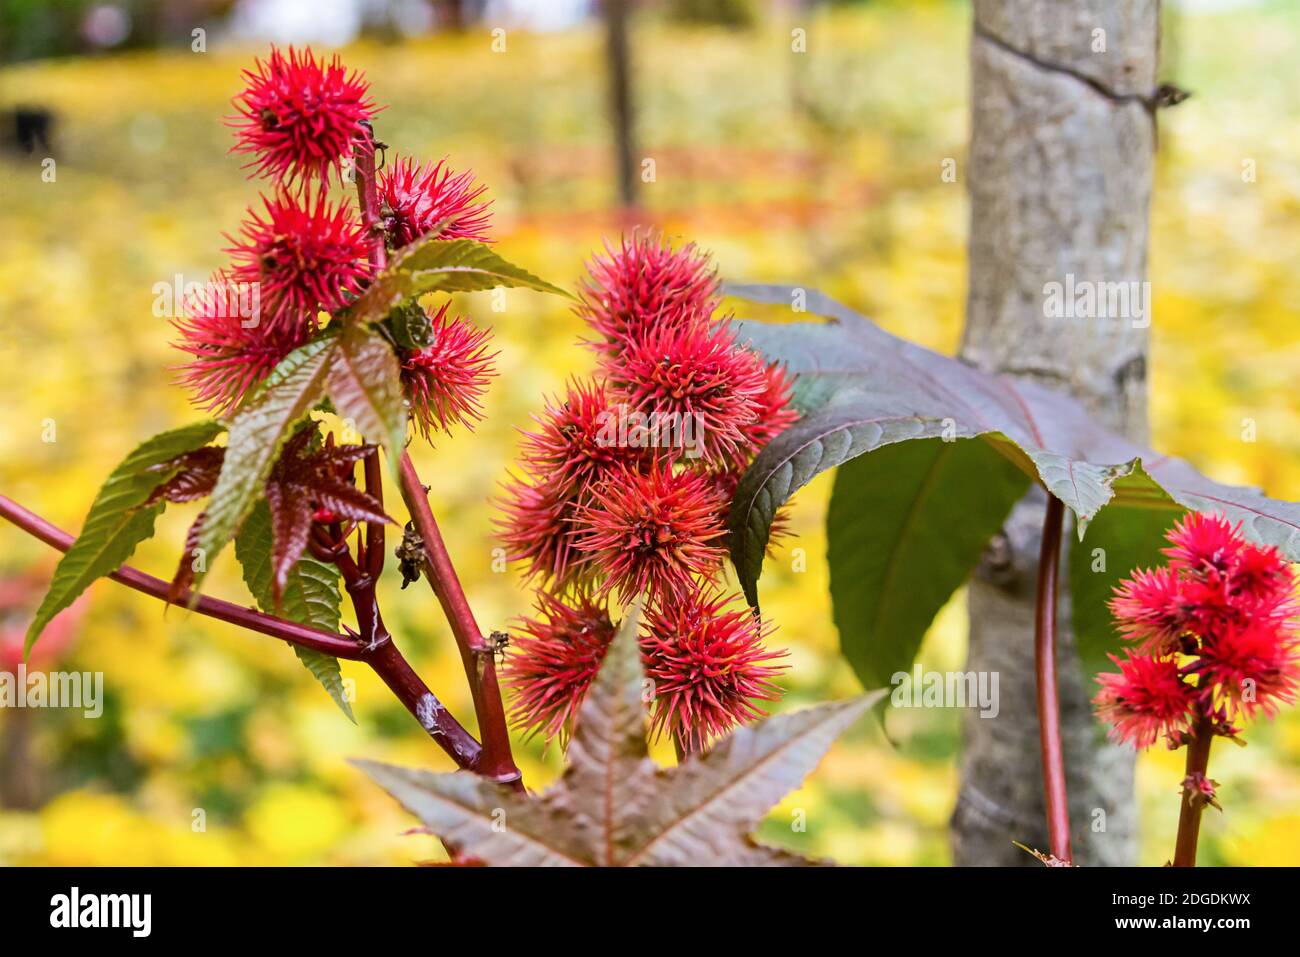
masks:
<path fill-rule="evenodd" d="M 5 495 L 0 495 L 0 518 L 12 521 L 14 525 L 39 538 L 60 551 L 68 551 L 73 545 L 73 537 L 61 528 L 52 525 L 35 512 L 30 512 L 21 505 Z M 161 601 L 168 601 L 170 585 L 161 579 L 131 568 L 124 564 L 108 577 L 136 592 L 153 596 Z M 185 593 L 178 603 L 188 605 L 191 593 Z M 192 606 L 194 611 L 220 622 L 247 628 L 260 635 L 280 638 L 290 645 L 309 648 L 313 651 L 334 655 L 344 661 L 359 661 L 369 664 L 370 668 L 393 689 L 398 700 L 415 715 L 434 744 L 442 748 L 447 755 L 456 762 L 458 767 L 477 770 L 482 749 L 473 736 L 465 731 L 456 719 L 433 696 L 429 688 L 420 680 L 420 676 L 411 670 L 411 666 L 402 657 L 402 653 L 393 644 L 391 638 L 377 644 L 361 644 L 356 638 L 344 635 L 332 635 L 317 628 L 286 622 L 274 615 L 265 615 L 252 609 L 246 609 L 220 598 L 199 596 Z M 360 619 L 360 611 L 358 612 Z M 382 622 L 378 622 L 382 628 Z M 372 627 L 368 638 L 376 636 Z M 363 623 L 363 635 L 365 625 Z M 385 632 L 386 635 L 386 632 Z"/>

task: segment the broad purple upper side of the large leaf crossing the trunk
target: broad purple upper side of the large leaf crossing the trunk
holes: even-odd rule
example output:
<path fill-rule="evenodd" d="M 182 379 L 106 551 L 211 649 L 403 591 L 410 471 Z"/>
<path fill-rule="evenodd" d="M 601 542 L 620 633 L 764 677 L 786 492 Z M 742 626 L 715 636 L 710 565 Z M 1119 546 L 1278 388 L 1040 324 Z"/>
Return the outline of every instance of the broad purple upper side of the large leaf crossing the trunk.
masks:
<path fill-rule="evenodd" d="M 1249 538 L 1300 560 L 1300 505 L 1212 481 L 1180 459 L 1104 429 L 1066 395 L 900 339 L 815 290 L 727 291 L 766 304 L 802 302 L 832 320 L 736 324 L 741 342 L 800 377 L 803 412 L 758 455 L 736 492 L 732 558 L 751 603 L 776 508 L 818 473 L 914 438 L 988 442 L 1070 507 L 1080 537 L 1112 505 L 1217 511 L 1243 523 Z"/>

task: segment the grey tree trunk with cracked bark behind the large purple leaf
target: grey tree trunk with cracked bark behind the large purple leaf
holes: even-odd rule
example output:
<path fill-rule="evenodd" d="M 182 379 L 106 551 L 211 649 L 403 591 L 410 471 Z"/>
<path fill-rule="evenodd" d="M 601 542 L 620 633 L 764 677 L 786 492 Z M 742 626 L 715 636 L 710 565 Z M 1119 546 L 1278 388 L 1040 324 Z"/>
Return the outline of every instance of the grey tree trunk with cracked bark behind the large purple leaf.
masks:
<path fill-rule="evenodd" d="M 962 358 L 1071 393 L 1139 441 L 1149 313 L 1053 319 L 1044 287 L 1071 274 L 1145 280 L 1158 13 L 1158 0 L 976 0 L 971 40 Z M 970 585 L 967 667 L 1000 672 L 1001 713 L 965 719 L 952 819 L 958 865 L 1035 865 L 1011 841 L 1048 845 L 1034 684 L 1044 495 L 1035 488 L 1015 507 Z M 1066 588 L 1058 680 L 1075 862 L 1132 863 L 1134 761 L 1096 731 Z"/>

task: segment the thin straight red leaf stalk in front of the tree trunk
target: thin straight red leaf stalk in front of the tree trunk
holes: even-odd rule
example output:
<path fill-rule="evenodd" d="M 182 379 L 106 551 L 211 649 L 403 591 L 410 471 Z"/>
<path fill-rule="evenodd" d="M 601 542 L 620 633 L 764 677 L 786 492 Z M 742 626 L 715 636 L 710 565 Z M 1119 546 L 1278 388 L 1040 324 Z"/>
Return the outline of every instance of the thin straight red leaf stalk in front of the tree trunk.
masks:
<path fill-rule="evenodd" d="M 1048 840 L 1053 856 L 1071 861 L 1070 804 L 1065 791 L 1061 750 L 1061 701 L 1056 676 L 1057 566 L 1061 562 L 1061 527 L 1065 503 L 1048 493 L 1039 553 L 1037 607 L 1034 618 L 1034 663 L 1039 687 L 1039 748 L 1043 755 L 1043 794 L 1048 810 Z"/>

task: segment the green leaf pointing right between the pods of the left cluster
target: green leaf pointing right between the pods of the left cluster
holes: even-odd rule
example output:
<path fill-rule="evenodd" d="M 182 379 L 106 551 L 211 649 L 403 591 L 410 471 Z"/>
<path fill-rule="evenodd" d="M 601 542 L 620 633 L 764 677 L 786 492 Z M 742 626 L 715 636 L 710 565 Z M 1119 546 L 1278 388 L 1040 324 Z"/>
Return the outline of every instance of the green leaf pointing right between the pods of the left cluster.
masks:
<path fill-rule="evenodd" d="M 572 299 L 559 286 L 506 261 L 490 246 L 473 239 L 428 239 L 406 247 L 352 303 L 348 315 L 355 321 L 374 322 L 400 302 L 425 293 L 472 293 L 497 286 L 524 286 Z"/>

